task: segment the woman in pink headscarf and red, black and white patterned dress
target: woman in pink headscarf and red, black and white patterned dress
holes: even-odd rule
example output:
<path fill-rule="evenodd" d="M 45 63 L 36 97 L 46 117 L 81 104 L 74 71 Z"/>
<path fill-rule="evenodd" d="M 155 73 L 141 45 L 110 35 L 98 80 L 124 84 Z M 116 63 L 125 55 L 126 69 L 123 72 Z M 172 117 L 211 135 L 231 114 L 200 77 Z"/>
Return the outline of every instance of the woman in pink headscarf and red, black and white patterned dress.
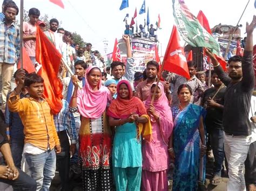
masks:
<path fill-rule="evenodd" d="M 110 168 L 111 129 L 106 119 L 107 103 L 112 100 L 102 75 L 96 66 L 86 70 L 83 89 L 78 89 L 77 76 L 72 76 L 75 89 L 70 111 L 81 114 L 79 130 L 79 159 L 82 166 L 84 190 L 112 190 Z"/>

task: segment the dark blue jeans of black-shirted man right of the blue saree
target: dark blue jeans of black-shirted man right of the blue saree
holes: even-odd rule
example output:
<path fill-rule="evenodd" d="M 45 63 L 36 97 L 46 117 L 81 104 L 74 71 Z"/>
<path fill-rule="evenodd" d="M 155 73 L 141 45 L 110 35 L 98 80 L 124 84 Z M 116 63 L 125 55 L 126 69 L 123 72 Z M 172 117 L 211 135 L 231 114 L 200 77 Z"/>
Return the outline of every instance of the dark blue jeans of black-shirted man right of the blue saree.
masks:
<path fill-rule="evenodd" d="M 224 161 L 224 131 L 214 129 L 210 134 L 212 152 L 214 156 L 213 175 L 221 175 L 221 167 Z"/>

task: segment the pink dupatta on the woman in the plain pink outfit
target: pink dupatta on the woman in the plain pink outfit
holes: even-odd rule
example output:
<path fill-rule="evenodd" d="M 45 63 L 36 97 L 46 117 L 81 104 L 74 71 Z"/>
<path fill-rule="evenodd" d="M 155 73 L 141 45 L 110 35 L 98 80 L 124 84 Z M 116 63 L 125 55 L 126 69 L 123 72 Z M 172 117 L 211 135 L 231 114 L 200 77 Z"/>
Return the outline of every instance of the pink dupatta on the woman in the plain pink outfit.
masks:
<path fill-rule="evenodd" d="M 153 84 L 157 84 L 157 82 L 154 82 Z M 158 100 L 154 100 L 153 105 L 154 105 L 154 108 L 156 109 L 156 112 L 160 115 L 159 123 L 160 123 L 161 137 L 163 138 L 164 143 L 168 146 L 169 138 L 173 130 L 172 111 L 169 106 L 169 101 L 165 96 L 163 84 L 159 83 L 158 87 L 160 88 L 161 96 L 158 98 Z M 151 91 L 151 88 L 150 88 L 150 91 Z M 151 95 L 149 95 L 149 97 L 144 103 L 145 103 L 146 109 L 148 109 L 151 103 Z M 150 118 L 151 118 L 151 121 L 153 122 L 152 116 Z"/>

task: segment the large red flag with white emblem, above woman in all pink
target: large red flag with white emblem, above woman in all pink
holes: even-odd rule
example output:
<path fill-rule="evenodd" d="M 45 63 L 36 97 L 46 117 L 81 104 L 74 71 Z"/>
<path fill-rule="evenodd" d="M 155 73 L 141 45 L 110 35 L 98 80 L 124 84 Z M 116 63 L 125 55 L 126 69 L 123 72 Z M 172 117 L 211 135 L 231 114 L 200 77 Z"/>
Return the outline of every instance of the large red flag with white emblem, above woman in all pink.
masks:
<path fill-rule="evenodd" d="M 184 48 L 179 43 L 180 38 L 177 27 L 173 25 L 172 34 L 164 55 L 164 70 L 190 79 Z"/>

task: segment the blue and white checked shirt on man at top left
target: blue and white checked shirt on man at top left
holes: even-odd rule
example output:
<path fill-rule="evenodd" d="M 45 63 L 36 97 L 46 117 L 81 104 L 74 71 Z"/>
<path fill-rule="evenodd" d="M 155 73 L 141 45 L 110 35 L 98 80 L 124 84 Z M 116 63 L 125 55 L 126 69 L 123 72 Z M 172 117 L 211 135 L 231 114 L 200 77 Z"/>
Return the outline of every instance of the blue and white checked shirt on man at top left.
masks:
<path fill-rule="evenodd" d="M 0 22 L 0 62 L 13 64 L 19 58 L 19 27 Z"/>

